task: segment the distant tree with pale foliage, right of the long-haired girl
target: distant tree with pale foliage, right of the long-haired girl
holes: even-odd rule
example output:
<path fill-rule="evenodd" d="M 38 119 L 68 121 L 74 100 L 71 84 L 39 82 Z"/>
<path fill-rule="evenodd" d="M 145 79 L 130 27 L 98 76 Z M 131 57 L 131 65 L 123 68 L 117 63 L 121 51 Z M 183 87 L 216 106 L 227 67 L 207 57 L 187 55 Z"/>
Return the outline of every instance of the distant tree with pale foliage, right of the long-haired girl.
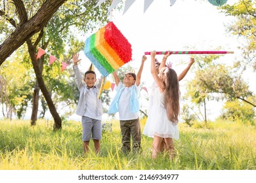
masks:
<path fill-rule="evenodd" d="M 202 105 L 204 121 L 207 122 L 206 101 L 240 99 L 255 107 L 255 95 L 249 90 L 248 84 L 242 79 L 236 68 L 217 63 L 219 56 L 200 56 L 197 58 L 198 68 L 194 79 L 188 81 L 186 98 L 192 103 Z M 201 112 L 200 112 L 201 113 Z"/>

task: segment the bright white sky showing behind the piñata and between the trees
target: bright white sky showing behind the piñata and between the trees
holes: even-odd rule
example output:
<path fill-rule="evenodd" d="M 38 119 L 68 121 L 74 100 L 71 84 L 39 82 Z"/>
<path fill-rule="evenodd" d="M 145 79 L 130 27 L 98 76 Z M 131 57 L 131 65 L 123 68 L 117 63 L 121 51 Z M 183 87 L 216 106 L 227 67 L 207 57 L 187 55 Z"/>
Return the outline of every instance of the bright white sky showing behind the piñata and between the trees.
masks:
<path fill-rule="evenodd" d="M 228 0 L 227 4 L 232 5 L 234 2 L 236 0 Z M 169 0 L 154 0 L 144 12 L 144 0 L 137 0 L 125 14 L 122 10 L 114 9 L 110 14 L 110 20 L 132 45 L 133 61 L 127 65 L 135 68 L 136 73 L 144 52 L 151 50 L 215 50 L 221 46 L 221 50 L 234 51 L 234 54 L 225 54 L 220 59 L 227 65 L 232 65 L 234 60 L 241 56 L 241 50 L 237 48 L 241 44 L 240 40 L 226 31 L 226 26 L 234 22 L 235 18 L 225 16 L 208 1 L 177 0 L 173 6 L 170 6 Z M 84 37 L 84 40 L 86 38 Z M 81 57 L 83 57 L 81 61 L 83 68 L 89 67 L 90 61 L 82 52 Z M 147 57 L 141 80 L 144 86 L 149 88 L 153 78 L 150 73 L 150 56 Z M 156 56 L 159 61 L 162 57 L 162 55 Z M 189 59 L 190 55 L 171 55 L 167 61 L 173 63 L 173 69 L 179 75 L 187 66 Z M 186 80 L 191 80 L 193 74 L 189 72 L 181 80 L 181 93 L 185 92 Z M 245 76 L 245 80 L 249 82 L 249 74 Z M 256 87 L 253 87 L 251 90 L 256 91 Z M 210 120 L 221 114 L 219 103 L 210 102 L 208 106 L 212 107 L 209 108 Z"/>

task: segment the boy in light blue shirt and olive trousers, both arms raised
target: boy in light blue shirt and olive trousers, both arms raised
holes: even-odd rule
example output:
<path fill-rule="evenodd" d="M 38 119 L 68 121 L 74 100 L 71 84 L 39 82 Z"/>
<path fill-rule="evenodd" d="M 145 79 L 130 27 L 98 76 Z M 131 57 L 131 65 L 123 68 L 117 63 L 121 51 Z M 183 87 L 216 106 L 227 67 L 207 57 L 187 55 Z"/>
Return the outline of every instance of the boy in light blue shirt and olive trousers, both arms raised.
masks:
<path fill-rule="evenodd" d="M 139 85 L 141 73 L 144 67 L 146 56 L 142 57 L 140 69 L 135 73 L 126 73 L 123 82 L 116 73 L 113 73 L 115 78 L 117 93 L 110 104 L 108 114 L 119 112 L 119 121 L 122 136 L 122 152 L 128 153 L 131 151 L 131 137 L 133 139 L 133 151 L 138 152 L 141 149 L 141 133 L 139 121 Z"/>

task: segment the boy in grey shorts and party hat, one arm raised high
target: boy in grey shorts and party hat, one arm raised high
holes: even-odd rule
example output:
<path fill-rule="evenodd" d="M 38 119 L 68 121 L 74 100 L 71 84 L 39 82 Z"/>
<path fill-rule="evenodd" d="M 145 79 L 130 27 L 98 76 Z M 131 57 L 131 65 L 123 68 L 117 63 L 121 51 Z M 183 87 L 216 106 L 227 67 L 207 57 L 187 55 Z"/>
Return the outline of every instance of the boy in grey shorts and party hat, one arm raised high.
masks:
<path fill-rule="evenodd" d="M 103 107 L 102 102 L 98 99 L 98 88 L 102 80 L 95 85 L 96 75 L 94 71 L 87 71 L 85 73 L 85 84 L 82 82 L 82 76 L 79 72 L 77 63 L 81 60 L 78 59 L 79 54 L 74 54 L 74 73 L 75 73 L 75 83 L 79 89 L 79 101 L 77 104 L 76 114 L 81 116 L 82 128 L 83 128 L 83 150 L 85 154 L 89 151 L 89 142 L 91 135 L 93 137 L 93 142 L 95 144 L 95 152 L 98 154 L 100 152 L 100 139 L 102 138 L 102 114 Z"/>

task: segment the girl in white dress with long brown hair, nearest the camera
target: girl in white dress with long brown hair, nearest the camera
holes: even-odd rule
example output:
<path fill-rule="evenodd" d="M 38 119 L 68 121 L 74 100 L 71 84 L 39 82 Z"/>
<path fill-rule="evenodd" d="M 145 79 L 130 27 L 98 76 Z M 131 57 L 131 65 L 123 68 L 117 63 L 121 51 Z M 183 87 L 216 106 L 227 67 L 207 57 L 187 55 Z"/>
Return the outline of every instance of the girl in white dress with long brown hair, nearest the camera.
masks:
<path fill-rule="evenodd" d="M 156 159 L 160 152 L 161 142 L 164 141 L 169 152 L 169 158 L 173 158 L 173 139 L 179 139 L 178 118 L 180 110 L 180 92 L 177 73 L 165 67 L 165 62 L 160 65 L 160 74 L 156 71 L 156 51 L 150 53 L 151 73 L 155 80 L 150 95 L 150 108 L 148 119 L 143 134 L 153 137 L 152 158 Z M 163 57 L 167 59 L 169 52 Z"/>

